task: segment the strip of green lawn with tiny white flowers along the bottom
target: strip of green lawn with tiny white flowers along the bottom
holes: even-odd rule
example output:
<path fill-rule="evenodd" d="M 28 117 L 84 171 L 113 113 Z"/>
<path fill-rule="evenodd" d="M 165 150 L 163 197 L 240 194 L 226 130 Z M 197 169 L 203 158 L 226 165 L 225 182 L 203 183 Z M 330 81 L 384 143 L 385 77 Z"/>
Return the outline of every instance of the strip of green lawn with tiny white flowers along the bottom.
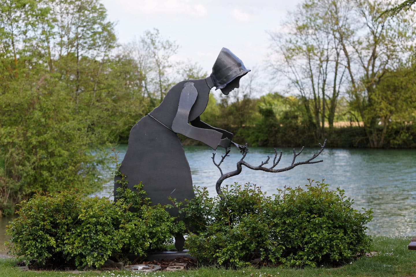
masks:
<path fill-rule="evenodd" d="M 225 270 L 221 267 L 200 267 L 197 270 L 178 272 L 21 272 L 14 265 L 16 259 L 0 260 L 0 276 L 7 277 L 416 277 L 416 251 L 408 250 L 410 237 L 375 237 L 373 251 L 378 255 L 374 257 L 361 257 L 351 264 L 341 267 L 321 268 L 287 268 L 287 267 L 246 267 L 239 270 Z"/>

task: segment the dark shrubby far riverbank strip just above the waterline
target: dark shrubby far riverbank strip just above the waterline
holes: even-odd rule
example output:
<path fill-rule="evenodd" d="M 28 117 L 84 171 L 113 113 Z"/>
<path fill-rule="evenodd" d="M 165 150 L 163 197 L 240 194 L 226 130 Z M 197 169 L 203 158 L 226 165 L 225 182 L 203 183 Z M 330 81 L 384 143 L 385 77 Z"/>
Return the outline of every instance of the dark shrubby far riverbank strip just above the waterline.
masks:
<path fill-rule="evenodd" d="M 414 149 L 416 148 L 416 125 L 391 125 L 386 129 L 384 143 L 371 147 L 366 129 L 358 124 L 337 124 L 333 128 L 325 127 L 322 139 L 305 125 L 276 125 L 273 128 L 260 126 L 218 126 L 234 134 L 233 141 L 249 147 L 316 147 L 327 139 L 326 148 L 378 148 L 378 149 Z M 383 126 L 377 126 L 376 131 L 383 132 Z M 202 142 L 178 135 L 183 145 L 204 145 Z M 127 143 L 127 140 L 121 140 Z"/>

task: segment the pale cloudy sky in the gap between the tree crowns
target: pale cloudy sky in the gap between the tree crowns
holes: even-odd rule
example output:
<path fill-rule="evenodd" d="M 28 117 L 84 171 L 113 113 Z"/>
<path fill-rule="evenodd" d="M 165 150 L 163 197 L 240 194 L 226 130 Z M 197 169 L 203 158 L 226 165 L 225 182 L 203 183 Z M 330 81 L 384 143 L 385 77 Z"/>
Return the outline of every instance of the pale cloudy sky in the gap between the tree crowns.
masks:
<path fill-rule="evenodd" d="M 157 28 L 180 47 L 174 59 L 197 62 L 210 72 L 222 47 L 248 69 L 260 71 L 270 45 L 267 31 L 280 31 L 301 0 L 102 0 L 116 22 L 120 43 Z M 260 73 L 260 72 L 259 72 Z M 263 75 L 263 74 L 261 74 Z"/>

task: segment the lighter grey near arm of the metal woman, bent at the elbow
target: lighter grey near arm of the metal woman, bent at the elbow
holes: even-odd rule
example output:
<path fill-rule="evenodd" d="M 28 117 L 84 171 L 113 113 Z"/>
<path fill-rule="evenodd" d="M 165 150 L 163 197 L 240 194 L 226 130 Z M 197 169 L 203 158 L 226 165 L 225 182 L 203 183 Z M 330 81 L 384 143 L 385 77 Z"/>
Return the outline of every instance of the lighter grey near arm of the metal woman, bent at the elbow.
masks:
<path fill-rule="evenodd" d="M 185 135 L 194 140 L 199 140 L 205 143 L 214 150 L 217 149 L 218 145 L 223 145 L 223 133 L 213 129 L 205 129 L 200 127 L 194 127 L 188 124 L 189 112 L 198 96 L 192 82 L 187 82 L 183 85 L 181 97 L 179 98 L 178 111 L 173 119 L 172 130 L 173 132 Z"/>

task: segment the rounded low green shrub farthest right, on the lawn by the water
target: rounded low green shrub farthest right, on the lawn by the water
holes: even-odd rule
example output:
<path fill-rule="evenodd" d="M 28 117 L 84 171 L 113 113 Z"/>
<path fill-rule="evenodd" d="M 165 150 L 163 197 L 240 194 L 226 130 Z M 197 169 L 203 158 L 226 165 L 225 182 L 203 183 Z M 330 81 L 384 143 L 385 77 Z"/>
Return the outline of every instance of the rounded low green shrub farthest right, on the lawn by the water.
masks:
<path fill-rule="evenodd" d="M 287 188 L 272 201 L 270 237 L 285 246 L 280 262 L 312 265 L 349 262 L 368 251 L 371 239 L 365 224 L 371 209 L 359 213 L 342 189 L 312 182 L 307 189 Z"/>

